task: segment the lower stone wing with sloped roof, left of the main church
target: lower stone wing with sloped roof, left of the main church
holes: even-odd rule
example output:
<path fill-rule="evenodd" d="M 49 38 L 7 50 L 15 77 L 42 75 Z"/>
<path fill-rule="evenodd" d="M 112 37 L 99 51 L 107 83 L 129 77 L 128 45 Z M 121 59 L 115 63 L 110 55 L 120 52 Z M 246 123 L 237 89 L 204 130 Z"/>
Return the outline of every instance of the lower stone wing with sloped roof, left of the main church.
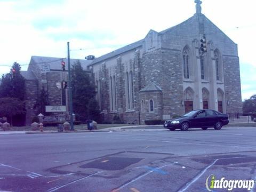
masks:
<path fill-rule="evenodd" d="M 48 94 L 48 101 L 50 106 L 66 106 L 69 112 L 69 98 L 68 91 L 61 90 L 57 87 L 57 82 L 68 81 L 67 71 L 61 68 L 61 61 L 68 63 L 67 59 L 38 57 L 32 56 L 27 71 L 21 71 L 21 75 L 25 78 L 26 89 L 26 125 L 31 124 L 34 116 L 37 116 L 38 108 L 35 107 L 41 90 L 44 88 Z M 70 64 L 73 65 L 76 59 L 70 59 Z M 87 70 L 87 65 L 91 61 L 79 60 L 82 67 Z M 67 65 L 67 64 L 66 64 Z M 43 70 L 44 67 L 47 70 Z M 68 68 L 68 66 L 66 66 Z M 60 113 L 52 113 L 52 115 L 59 115 Z"/>

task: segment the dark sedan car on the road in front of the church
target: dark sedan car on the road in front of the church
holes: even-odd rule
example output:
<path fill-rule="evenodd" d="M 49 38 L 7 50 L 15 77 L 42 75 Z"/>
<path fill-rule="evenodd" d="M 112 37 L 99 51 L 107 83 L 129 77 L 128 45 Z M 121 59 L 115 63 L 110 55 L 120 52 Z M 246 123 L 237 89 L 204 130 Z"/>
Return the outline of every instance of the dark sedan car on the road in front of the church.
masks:
<path fill-rule="evenodd" d="M 206 130 L 208 127 L 214 127 L 215 130 L 220 130 L 222 125 L 229 123 L 228 115 L 219 113 L 218 111 L 205 109 L 194 110 L 182 115 L 181 117 L 167 120 L 164 122 L 164 127 L 174 131 L 180 129 L 187 131 L 189 128 L 201 127 Z"/>

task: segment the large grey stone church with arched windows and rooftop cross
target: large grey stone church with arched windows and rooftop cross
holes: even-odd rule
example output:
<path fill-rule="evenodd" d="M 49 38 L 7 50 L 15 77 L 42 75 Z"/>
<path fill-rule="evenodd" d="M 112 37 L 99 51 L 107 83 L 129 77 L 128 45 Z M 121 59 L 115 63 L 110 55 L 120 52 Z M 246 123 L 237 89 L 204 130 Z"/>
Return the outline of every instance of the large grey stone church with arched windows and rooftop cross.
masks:
<path fill-rule="evenodd" d="M 170 119 L 195 109 L 242 112 L 237 44 L 201 12 L 93 60 L 105 120 Z M 201 39 L 205 45 L 201 45 Z M 201 49 L 206 46 L 205 50 Z"/>

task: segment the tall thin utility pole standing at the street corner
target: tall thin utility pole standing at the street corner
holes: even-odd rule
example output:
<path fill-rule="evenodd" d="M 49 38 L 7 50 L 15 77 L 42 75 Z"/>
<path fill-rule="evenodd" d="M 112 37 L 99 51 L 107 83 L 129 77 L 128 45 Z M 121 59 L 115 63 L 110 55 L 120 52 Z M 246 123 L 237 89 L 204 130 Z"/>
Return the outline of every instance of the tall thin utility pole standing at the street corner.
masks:
<path fill-rule="evenodd" d="M 69 96 L 70 130 L 75 131 L 74 130 L 74 119 L 73 119 L 73 101 L 72 101 L 72 87 L 71 87 L 69 42 L 68 42 L 68 96 Z"/>

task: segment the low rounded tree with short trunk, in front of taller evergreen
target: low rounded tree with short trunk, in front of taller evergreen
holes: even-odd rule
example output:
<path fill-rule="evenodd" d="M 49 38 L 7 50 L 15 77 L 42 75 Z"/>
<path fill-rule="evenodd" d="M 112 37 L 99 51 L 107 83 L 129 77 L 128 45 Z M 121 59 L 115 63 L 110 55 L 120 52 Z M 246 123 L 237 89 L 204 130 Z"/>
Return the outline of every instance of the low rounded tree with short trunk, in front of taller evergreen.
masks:
<path fill-rule="evenodd" d="M 10 119 L 12 125 L 12 117 L 25 113 L 25 101 L 17 98 L 0 98 L 0 116 Z"/>

